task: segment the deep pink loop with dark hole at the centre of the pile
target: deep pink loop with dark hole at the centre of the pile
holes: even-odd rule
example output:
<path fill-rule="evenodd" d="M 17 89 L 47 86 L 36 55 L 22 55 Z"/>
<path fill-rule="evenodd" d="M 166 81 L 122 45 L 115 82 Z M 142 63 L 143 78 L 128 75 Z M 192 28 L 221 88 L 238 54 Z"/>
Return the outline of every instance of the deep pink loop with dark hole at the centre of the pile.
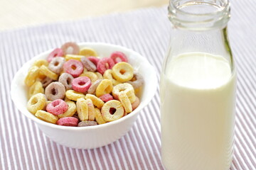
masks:
<path fill-rule="evenodd" d="M 73 90 L 80 93 L 85 93 L 91 85 L 92 82 L 90 81 L 89 77 L 78 77 L 72 81 Z"/>

